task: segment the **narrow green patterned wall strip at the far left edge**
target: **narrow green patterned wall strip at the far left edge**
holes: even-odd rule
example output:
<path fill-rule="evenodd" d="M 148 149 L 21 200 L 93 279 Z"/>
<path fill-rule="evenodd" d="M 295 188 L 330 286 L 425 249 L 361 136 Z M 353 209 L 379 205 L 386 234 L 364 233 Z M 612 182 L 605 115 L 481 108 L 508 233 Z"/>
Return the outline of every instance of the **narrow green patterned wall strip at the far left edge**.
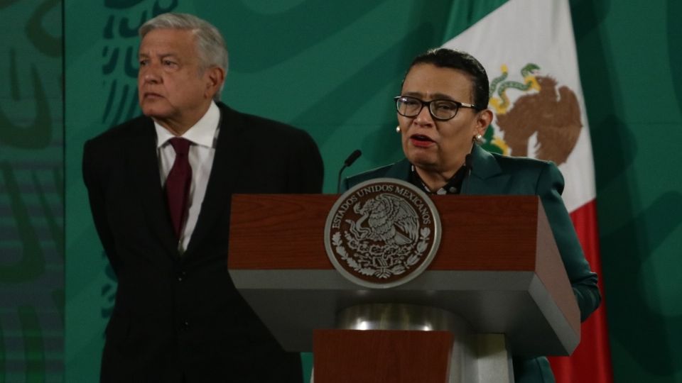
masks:
<path fill-rule="evenodd" d="M 0 382 L 61 382 L 62 9 L 0 1 Z"/>

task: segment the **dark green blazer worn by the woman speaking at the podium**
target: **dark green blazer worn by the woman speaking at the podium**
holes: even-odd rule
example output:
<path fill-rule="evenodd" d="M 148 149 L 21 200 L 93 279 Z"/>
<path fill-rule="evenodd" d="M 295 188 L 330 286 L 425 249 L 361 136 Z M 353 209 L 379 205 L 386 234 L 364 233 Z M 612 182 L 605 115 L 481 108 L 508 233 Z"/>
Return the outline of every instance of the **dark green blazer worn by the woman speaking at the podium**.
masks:
<path fill-rule="evenodd" d="M 471 154 L 471 173 L 462 183 L 462 194 L 516 194 L 540 197 L 573 287 L 575 299 L 578 301 L 580 320 L 585 321 L 599 306 L 601 295 L 597 288 L 597 274 L 590 270 L 590 265 L 585 260 L 583 248 L 580 247 L 573 223 L 561 199 L 564 185 L 561 172 L 552 162 L 491 154 L 478 145 L 474 145 Z M 342 189 L 380 177 L 408 181 L 410 172 L 410 162 L 402 160 L 345 179 Z M 546 357 L 514 357 L 513 364 L 516 383 L 554 382 Z"/>

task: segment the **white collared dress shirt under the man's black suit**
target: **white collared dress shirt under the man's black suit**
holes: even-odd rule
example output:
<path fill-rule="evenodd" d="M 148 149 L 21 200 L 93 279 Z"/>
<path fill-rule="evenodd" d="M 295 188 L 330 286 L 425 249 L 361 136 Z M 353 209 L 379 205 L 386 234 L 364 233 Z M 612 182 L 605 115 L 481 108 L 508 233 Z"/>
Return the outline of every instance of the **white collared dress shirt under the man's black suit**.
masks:
<path fill-rule="evenodd" d="M 192 184 L 190 186 L 190 195 L 188 196 L 190 210 L 185 220 L 185 226 L 180 231 L 180 238 L 178 240 L 178 251 L 180 251 L 180 254 L 187 250 L 187 245 L 190 243 L 192 233 L 197 226 L 197 218 L 199 218 L 201 203 L 206 194 L 206 185 L 208 184 L 208 177 L 213 166 L 213 157 L 215 157 L 215 145 L 218 133 L 220 133 L 219 123 L 220 109 L 218 109 L 215 102 L 212 102 L 204 116 L 194 126 L 189 128 L 185 134 L 180 136 L 192 142 L 188 154 L 188 160 L 192 167 Z M 156 123 L 156 121 L 154 121 L 154 126 L 156 127 L 158 169 L 161 172 L 161 185 L 165 185 L 168 172 L 171 172 L 171 167 L 173 167 L 173 162 L 175 161 L 175 150 L 168 143 L 168 140 L 175 137 L 175 135 Z"/>

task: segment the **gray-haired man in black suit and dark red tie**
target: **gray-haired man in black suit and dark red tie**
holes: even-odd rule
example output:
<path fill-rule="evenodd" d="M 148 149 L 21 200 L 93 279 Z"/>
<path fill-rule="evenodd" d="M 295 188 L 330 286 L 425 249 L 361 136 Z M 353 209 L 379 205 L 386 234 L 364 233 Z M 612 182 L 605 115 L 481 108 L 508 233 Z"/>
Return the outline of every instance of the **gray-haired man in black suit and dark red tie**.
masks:
<path fill-rule="evenodd" d="M 89 140 L 83 177 L 118 278 L 103 382 L 301 382 L 227 272 L 233 193 L 318 193 L 310 136 L 215 101 L 220 32 L 166 13 L 140 28 L 144 116 Z M 273 252 L 276 256 L 276 252 Z"/>

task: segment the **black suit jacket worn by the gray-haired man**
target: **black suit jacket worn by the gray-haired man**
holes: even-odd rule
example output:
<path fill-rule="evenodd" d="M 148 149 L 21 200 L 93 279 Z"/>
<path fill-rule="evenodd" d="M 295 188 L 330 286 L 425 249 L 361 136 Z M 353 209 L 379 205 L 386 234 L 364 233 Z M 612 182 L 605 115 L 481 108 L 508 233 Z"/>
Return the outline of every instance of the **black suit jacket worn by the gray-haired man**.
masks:
<path fill-rule="evenodd" d="M 308 133 L 218 106 L 210 179 L 182 257 L 151 118 L 85 144 L 94 224 L 118 278 L 104 382 L 301 382 L 298 353 L 282 350 L 229 278 L 230 196 L 319 193 L 322 159 Z"/>

